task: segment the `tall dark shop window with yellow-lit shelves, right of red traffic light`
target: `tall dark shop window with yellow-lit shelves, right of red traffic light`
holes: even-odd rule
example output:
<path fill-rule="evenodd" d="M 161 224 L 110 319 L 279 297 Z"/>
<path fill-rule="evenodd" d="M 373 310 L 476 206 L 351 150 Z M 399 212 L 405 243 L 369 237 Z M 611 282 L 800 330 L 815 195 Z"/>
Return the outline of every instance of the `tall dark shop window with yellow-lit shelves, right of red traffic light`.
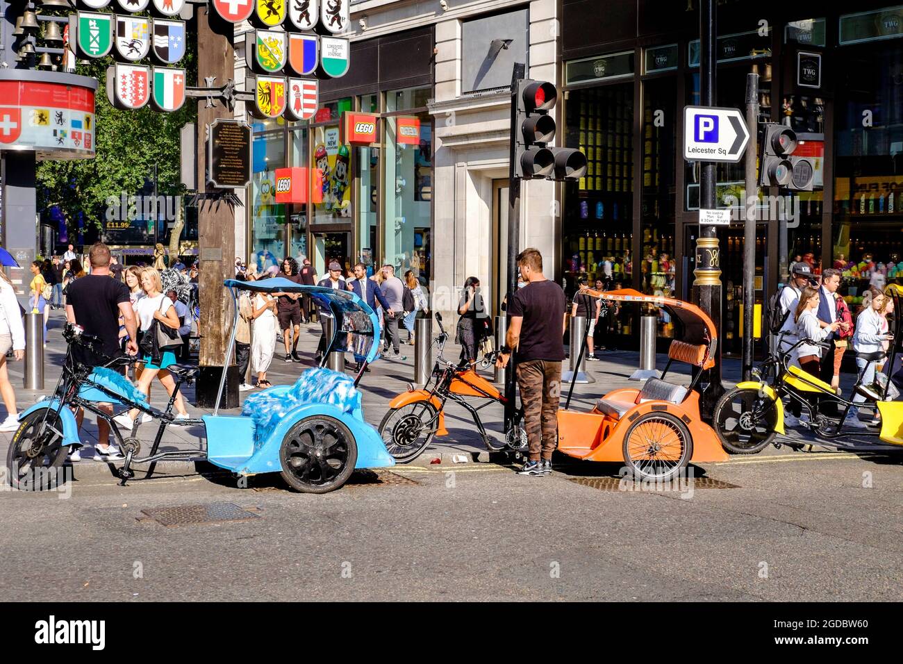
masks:
<path fill-rule="evenodd" d="M 582 276 L 605 288 L 633 281 L 633 83 L 568 92 L 563 145 L 586 154 L 587 173 L 564 187 L 563 273 L 572 297 Z M 622 310 L 611 332 L 630 333 Z M 607 331 L 604 331 L 607 332 Z M 604 333 L 603 332 L 603 333 Z"/>

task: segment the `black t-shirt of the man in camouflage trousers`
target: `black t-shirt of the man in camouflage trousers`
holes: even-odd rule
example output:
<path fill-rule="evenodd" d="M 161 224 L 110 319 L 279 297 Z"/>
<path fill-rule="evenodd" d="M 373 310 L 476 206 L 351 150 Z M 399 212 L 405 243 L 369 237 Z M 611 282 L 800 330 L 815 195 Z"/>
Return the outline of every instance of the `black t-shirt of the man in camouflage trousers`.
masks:
<path fill-rule="evenodd" d="M 523 316 L 516 360 L 564 360 L 562 324 L 567 307 L 562 287 L 550 279 L 518 288 L 507 313 Z"/>

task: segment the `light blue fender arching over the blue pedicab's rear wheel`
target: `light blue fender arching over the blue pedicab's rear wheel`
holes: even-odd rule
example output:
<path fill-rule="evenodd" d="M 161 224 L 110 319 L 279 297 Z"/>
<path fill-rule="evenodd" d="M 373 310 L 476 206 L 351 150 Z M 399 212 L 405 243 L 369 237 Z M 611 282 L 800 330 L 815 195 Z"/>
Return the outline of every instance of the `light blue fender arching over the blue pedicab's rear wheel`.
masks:
<path fill-rule="evenodd" d="M 355 443 L 358 444 L 358 463 L 355 463 L 355 468 L 385 468 L 395 465 L 395 459 L 386 451 L 383 439 L 375 428 L 363 421 L 359 410 L 355 411 L 354 414 L 350 414 L 330 404 L 314 403 L 303 404 L 286 413 L 279 424 L 275 426 L 269 438 L 237 472 L 247 474 L 254 472 L 280 472 L 282 467 L 279 463 L 279 448 L 282 445 L 285 434 L 288 433 L 288 430 L 295 423 L 303 420 L 305 417 L 320 415 L 337 419 L 349 428 L 351 435 L 354 436 Z"/>

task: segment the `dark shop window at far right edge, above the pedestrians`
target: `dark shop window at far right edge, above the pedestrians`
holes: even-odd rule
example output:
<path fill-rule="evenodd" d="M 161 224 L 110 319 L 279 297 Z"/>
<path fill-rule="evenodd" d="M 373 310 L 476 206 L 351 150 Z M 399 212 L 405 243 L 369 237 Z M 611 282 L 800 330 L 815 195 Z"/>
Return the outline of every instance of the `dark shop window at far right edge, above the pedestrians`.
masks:
<path fill-rule="evenodd" d="M 846 48 L 837 63 L 832 257 L 855 304 L 869 285 L 903 284 L 903 44 Z"/>

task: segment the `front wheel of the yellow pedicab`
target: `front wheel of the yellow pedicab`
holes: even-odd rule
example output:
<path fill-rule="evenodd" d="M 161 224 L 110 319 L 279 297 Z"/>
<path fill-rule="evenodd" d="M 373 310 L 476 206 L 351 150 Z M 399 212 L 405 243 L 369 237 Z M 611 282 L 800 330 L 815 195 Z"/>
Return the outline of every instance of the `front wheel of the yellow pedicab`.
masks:
<path fill-rule="evenodd" d="M 724 393 L 712 415 L 721 446 L 731 454 L 756 454 L 774 440 L 777 404 L 756 388 Z"/>

